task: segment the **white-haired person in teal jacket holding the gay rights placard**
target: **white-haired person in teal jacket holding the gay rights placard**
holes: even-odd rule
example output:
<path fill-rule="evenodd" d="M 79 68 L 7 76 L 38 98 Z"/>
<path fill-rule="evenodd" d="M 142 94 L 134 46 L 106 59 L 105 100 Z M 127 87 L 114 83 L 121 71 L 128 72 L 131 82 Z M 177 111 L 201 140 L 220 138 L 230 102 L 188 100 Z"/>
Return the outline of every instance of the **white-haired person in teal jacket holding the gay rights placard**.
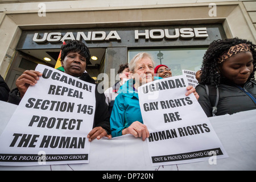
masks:
<path fill-rule="evenodd" d="M 138 87 L 148 82 L 158 80 L 160 77 L 154 76 L 155 63 L 152 57 L 141 52 L 130 61 L 129 68 L 133 79 L 128 80 L 118 90 L 118 96 L 115 98 L 112 114 L 110 117 L 110 127 L 112 137 L 118 137 L 125 134 L 141 137 L 144 141 L 149 137 L 147 126 L 143 124 L 141 109 L 139 107 Z M 187 87 L 188 96 L 196 93 L 193 86 Z M 198 94 L 195 94 L 198 99 Z"/>

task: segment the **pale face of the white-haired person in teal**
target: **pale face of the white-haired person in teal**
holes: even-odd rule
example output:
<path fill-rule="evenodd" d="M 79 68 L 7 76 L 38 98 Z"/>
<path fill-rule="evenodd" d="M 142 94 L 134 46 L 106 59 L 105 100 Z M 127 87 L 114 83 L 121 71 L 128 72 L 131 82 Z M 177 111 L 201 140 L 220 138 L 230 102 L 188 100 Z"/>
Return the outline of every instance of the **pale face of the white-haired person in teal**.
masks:
<path fill-rule="evenodd" d="M 143 57 L 136 64 L 133 76 L 140 85 L 154 80 L 154 65 L 149 57 Z"/>

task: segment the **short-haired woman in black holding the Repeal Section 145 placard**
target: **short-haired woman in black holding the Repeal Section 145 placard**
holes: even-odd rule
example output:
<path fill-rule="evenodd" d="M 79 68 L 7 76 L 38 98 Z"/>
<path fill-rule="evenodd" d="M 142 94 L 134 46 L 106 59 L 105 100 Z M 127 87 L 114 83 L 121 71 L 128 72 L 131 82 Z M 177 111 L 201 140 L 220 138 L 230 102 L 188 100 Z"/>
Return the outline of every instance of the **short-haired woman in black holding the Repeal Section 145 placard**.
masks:
<path fill-rule="evenodd" d="M 61 66 L 68 75 L 79 78 L 80 80 L 95 84 L 93 78 L 84 72 L 86 63 L 90 59 L 90 52 L 84 43 L 78 40 L 70 40 L 61 46 Z M 17 88 L 11 90 L 9 102 L 18 105 L 26 93 L 28 86 L 35 85 L 42 73 L 33 70 L 26 70 L 16 80 Z M 104 93 L 100 94 L 95 89 L 96 110 L 94 114 L 93 129 L 88 134 L 89 141 L 94 138 L 112 138 L 109 123 L 108 106 Z"/>

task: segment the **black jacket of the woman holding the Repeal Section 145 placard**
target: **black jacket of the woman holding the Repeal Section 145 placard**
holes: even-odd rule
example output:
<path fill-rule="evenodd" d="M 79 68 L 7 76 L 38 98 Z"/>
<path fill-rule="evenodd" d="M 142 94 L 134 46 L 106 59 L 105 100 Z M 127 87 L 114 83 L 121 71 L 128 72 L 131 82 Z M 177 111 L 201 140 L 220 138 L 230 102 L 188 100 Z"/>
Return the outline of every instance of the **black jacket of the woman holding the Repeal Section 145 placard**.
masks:
<path fill-rule="evenodd" d="M 79 77 L 79 79 L 86 82 L 90 82 L 92 84 L 96 84 L 93 78 L 91 78 L 88 73 L 83 73 L 83 75 Z M 19 105 L 21 98 L 17 96 L 17 93 L 18 93 L 18 88 L 11 90 L 8 102 Z M 97 85 L 95 89 L 95 97 L 96 97 L 96 109 L 95 109 L 93 127 L 101 126 L 103 129 L 107 131 L 108 134 L 111 134 L 110 122 L 109 122 L 110 115 L 108 112 L 108 105 L 106 104 L 106 97 L 104 93 L 98 92 Z"/>

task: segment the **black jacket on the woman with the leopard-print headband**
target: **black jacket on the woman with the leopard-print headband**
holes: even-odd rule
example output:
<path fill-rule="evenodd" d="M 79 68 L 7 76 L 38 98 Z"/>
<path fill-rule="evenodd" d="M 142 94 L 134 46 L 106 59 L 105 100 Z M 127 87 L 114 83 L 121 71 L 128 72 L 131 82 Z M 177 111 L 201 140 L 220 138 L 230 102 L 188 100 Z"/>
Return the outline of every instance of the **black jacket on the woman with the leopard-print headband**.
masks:
<path fill-rule="evenodd" d="M 208 85 L 209 90 L 214 87 Z M 220 97 L 217 105 L 216 115 L 234 114 L 240 111 L 256 109 L 256 83 L 255 81 L 247 81 L 243 88 L 223 80 L 218 86 Z M 214 92 L 207 95 L 205 85 L 196 86 L 196 92 L 199 94 L 199 104 L 203 108 L 207 117 L 212 117 L 212 106 L 214 106 Z M 212 103 L 213 102 L 213 103 Z"/>

